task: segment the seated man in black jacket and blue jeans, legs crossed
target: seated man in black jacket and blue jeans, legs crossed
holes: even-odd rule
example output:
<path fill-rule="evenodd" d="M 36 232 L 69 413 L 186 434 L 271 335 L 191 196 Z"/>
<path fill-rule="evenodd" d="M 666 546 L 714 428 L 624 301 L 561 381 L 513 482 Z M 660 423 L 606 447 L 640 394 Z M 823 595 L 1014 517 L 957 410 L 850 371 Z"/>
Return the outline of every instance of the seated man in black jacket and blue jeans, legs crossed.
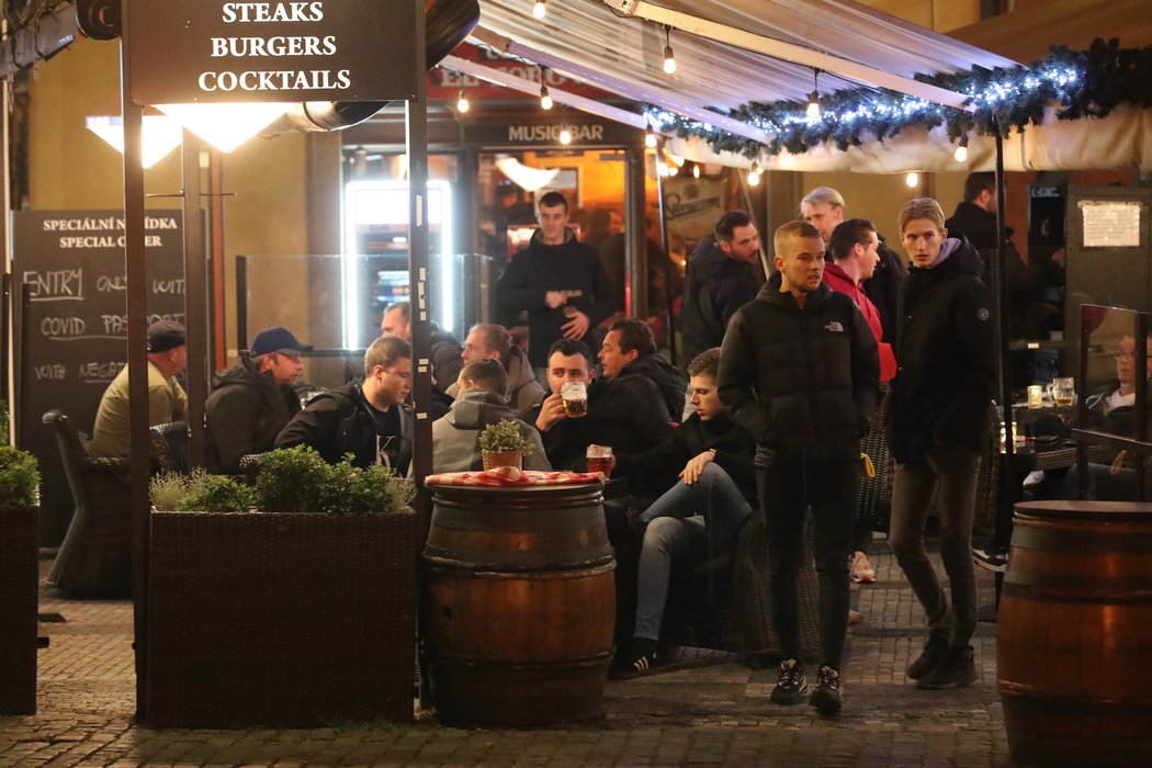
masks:
<path fill-rule="evenodd" d="M 646 525 L 636 594 L 631 649 L 617 677 L 643 675 L 655 661 L 660 621 L 673 561 L 714 557 L 736 547 L 736 534 L 757 504 L 752 457 L 756 443 L 733 424 L 717 394 L 720 349 L 700 352 L 689 365 L 695 413 L 672 436 L 615 465 L 637 491 L 664 493 L 636 518 Z M 683 467 L 679 474 L 676 467 Z M 628 602 L 627 598 L 623 598 Z"/>

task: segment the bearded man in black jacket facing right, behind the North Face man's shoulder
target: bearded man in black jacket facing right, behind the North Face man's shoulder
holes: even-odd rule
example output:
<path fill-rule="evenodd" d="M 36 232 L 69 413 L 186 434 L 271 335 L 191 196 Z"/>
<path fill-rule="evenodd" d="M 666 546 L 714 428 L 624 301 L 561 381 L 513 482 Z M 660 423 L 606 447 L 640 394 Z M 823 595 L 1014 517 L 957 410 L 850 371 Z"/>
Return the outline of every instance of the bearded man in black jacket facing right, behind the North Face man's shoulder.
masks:
<path fill-rule="evenodd" d="M 696 248 L 684 276 L 681 317 L 685 360 L 719 347 L 732 315 L 756 298 L 751 265 L 759 254 L 760 235 L 743 211 L 720 216 L 715 239 L 702 241 Z"/>

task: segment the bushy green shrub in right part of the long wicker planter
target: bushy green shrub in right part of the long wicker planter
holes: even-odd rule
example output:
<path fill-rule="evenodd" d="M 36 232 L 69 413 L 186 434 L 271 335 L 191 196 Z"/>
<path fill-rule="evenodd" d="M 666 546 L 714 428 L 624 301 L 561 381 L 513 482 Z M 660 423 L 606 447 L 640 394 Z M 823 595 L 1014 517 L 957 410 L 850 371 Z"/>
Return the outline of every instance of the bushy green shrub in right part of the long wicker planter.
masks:
<path fill-rule="evenodd" d="M 415 494 L 410 480 L 386 466 L 356 467 L 349 456 L 327 464 L 306 446 L 268 453 L 256 477 L 256 508 L 264 512 L 394 512 Z"/>

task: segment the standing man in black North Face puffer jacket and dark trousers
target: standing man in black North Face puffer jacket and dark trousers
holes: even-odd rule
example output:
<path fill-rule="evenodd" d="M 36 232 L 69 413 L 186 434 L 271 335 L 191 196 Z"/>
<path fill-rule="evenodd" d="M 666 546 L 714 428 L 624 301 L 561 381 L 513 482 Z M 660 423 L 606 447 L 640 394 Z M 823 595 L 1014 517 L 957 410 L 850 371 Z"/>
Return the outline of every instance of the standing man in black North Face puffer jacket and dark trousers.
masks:
<path fill-rule="evenodd" d="M 840 712 L 840 663 L 848 630 L 859 439 L 880 387 L 876 337 L 855 302 L 821 282 L 824 241 L 806 221 L 775 231 L 779 269 L 728 324 L 720 398 L 756 439 L 760 504 L 768 525 L 772 609 L 783 661 L 775 704 L 808 691 L 799 655 L 796 579 L 804 516 L 816 523 L 820 667 L 809 702 Z"/>

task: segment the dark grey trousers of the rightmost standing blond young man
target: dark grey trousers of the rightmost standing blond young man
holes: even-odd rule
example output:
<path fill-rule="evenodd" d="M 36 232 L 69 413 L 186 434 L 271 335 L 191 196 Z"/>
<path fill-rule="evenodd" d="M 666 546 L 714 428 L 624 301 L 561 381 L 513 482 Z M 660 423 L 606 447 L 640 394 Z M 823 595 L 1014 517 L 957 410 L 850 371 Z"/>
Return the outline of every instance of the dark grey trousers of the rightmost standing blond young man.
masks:
<path fill-rule="evenodd" d="M 933 446 L 915 462 L 896 463 L 888 545 L 927 615 L 929 630 L 968 645 L 976 632 L 972 515 L 979 455 L 958 446 Z M 932 492 L 940 486 L 940 560 L 948 573 L 952 608 L 924 548 Z"/>

